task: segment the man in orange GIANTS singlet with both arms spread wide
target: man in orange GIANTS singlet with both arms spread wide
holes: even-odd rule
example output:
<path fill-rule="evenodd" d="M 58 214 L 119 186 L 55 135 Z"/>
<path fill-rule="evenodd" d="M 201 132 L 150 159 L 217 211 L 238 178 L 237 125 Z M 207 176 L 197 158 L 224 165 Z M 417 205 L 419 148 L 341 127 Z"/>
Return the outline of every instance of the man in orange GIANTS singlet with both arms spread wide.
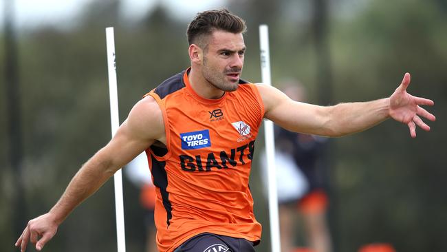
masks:
<path fill-rule="evenodd" d="M 240 79 L 246 46 L 242 19 L 227 10 L 201 12 L 188 25 L 188 70 L 139 101 L 113 139 L 74 176 L 52 209 L 28 222 L 16 246 L 40 251 L 58 226 L 120 167 L 146 150 L 157 187 L 155 223 L 160 251 L 254 251 L 261 224 L 253 214 L 248 176 L 263 118 L 293 132 L 343 136 L 386 118 L 415 137 L 419 105 L 406 93 L 410 74 L 390 98 L 321 107 L 298 103 L 268 85 Z"/>

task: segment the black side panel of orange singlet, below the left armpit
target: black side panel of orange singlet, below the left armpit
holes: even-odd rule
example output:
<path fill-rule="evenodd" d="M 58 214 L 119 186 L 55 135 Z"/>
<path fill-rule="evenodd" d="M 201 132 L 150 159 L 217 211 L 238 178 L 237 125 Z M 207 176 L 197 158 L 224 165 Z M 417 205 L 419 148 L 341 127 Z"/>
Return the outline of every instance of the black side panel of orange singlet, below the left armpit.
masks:
<path fill-rule="evenodd" d="M 173 217 L 172 215 L 172 205 L 169 201 L 169 193 L 166 191 L 166 187 L 168 187 L 168 175 L 166 174 L 166 170 L 164 167 L 166 166 L 165 161 L 158 161 L 155 159 L 153 155 L 151 155 L 152 160 L 152 169 L 151 174 L 153 176 L 153 185 L 160 189 L 160 193 L 162 194 L 163 206 L 166 210 L 166 224 L 169 227 L 169 220 Z"/>

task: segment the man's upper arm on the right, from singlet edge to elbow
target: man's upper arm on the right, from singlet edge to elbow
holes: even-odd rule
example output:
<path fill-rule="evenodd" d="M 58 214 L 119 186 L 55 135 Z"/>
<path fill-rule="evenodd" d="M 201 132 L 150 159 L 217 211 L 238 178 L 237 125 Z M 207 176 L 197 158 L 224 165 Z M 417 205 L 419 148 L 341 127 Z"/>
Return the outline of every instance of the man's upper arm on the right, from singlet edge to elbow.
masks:
<path fill-rule="evenodd" d="M 265 118 L 292 132 L 327 136 L 329 107 L 293 101 L 268 85 L 258 85 L 265 107 Z"/>

